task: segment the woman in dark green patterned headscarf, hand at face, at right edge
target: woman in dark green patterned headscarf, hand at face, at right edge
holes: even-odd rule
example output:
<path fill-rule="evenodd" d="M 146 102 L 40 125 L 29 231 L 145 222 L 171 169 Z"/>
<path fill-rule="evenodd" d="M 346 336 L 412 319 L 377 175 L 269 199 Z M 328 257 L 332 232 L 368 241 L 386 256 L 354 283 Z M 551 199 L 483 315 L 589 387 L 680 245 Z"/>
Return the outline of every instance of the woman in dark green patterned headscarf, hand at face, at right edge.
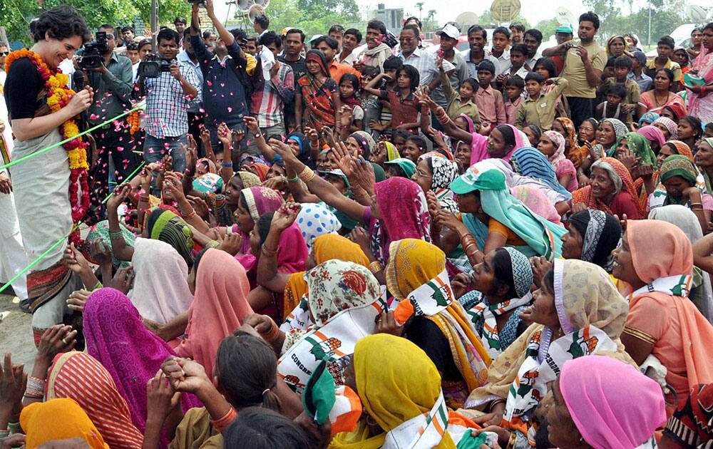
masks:
<path fill-rule="evenodd" d="M 693 162 L 683 155 L 671 155 L 660 169 L 660 184 L 649 195 L 649 210 L 660 206 L 682 205 L 707 229 L 713 210 L 713 197 L 705 191 L 705 181 Z"/>

